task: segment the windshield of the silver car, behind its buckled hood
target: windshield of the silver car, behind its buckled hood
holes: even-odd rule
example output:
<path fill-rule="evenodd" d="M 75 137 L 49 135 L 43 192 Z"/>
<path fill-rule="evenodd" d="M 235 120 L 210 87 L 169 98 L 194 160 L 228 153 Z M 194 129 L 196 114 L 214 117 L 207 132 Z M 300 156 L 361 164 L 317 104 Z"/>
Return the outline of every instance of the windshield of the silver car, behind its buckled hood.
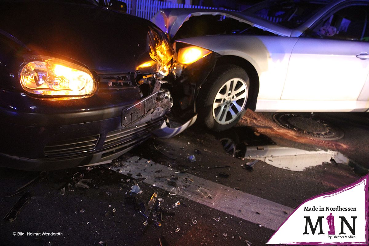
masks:
<path fill-rule="evenodd" d="M 263 1 L 243 12 L 278 23 L 287 28 L 296 28 L 312 17 L 328 1 L 280 0 Z"/>

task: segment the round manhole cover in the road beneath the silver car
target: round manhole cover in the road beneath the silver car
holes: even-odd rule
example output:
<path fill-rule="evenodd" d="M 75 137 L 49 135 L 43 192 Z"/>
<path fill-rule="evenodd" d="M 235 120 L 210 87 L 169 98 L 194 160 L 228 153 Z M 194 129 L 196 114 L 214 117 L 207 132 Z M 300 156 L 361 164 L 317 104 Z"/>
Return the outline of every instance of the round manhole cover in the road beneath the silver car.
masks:
<path fill-rule="evenodd" d="M 273 120 L 285 129 L 299 132 L 310 138 L 337 140 L 344 136 L 339 128 L 311 114 L 276 113 L 273 115 Z"/>

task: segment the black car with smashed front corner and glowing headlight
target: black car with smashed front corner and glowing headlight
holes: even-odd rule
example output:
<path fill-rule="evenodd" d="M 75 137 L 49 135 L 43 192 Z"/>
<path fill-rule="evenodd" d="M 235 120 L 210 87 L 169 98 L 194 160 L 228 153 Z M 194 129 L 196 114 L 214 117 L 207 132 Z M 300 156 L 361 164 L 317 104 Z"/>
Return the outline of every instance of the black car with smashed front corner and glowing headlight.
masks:
<path fill-rule="evenodd" d="M 0 17 L 0 166 L 53 170 L 107 163 L 154 130 L 175 135 L 178 126 L 163 126 L 173 99 L 162 87 L 174 52 L 155 25 L 97 6 L 3 4 L 2 11 L 21 13 L 19 21 Z M 30 13 L 52 21 L 37 27 Z M 23 18 L 37 28 L 25 30 Z M 127 40 L 127 33 L 135 35 Z"/>

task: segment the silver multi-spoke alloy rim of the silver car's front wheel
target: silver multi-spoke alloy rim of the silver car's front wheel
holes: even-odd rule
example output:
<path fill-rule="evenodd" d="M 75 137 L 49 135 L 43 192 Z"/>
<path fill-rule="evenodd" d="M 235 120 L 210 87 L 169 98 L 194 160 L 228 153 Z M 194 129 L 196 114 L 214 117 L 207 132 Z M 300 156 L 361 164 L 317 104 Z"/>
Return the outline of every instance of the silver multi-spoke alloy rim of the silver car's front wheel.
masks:
<path fill-rule="evenodd" d="M 213 117 L 218 124 L 227 125 L 237 119 L 245 108 L 247 85 L 243 79 L 230 79 L 223 84 L 213 102 Z"/>

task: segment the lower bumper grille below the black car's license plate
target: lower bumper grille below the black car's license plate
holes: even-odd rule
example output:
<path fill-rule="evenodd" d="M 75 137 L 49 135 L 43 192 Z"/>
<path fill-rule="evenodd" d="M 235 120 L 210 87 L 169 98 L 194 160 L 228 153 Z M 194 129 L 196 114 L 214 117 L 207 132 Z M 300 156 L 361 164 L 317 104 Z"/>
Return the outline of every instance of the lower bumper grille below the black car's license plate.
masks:
<path fill-rule="evenodd" d="M 160 121 L 161 119 L 157 119 L 155 121 L 146 122 L 137 126 L 109 132 L 106 135 L 103 148 L 117 145 L 130 146 L 136 142 L 143 141 L 143 139 L 151 136 L 151 128 L 156 127 Z"/>

